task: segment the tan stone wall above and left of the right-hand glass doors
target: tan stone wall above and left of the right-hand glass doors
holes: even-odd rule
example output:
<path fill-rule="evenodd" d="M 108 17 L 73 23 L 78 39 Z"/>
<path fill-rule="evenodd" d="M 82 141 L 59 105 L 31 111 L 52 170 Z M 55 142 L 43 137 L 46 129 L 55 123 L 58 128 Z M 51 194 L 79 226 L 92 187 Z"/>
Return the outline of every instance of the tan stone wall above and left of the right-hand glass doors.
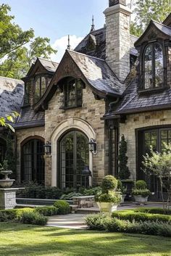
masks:
<path fill-rule="evenodd" d="M 128 142 L 128 167 L 133 179 L 136 178 L 135 129 L 154 125 L 170 125 L 171 127 L 171 110 L 128 115 L 125 124 L 120 124 L 120 137 L 124 134 Z"/>

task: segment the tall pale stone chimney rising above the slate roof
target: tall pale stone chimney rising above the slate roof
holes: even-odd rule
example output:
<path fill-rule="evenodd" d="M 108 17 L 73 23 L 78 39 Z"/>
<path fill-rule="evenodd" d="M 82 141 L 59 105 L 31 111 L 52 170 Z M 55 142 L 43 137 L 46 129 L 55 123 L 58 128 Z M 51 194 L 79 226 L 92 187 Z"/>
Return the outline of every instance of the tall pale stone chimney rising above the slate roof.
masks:
<path fill-rule="evenodd" d="M 126 0 L 109 0 L 106 17 L 106 61 L 117 78 L 130 72 L 130 14 Z"/>

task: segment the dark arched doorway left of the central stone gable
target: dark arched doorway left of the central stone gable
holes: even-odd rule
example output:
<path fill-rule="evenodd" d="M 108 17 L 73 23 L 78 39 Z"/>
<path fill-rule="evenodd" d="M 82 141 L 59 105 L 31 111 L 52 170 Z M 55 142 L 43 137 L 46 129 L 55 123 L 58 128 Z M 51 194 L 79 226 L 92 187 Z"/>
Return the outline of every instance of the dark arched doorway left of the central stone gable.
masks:
<path fill-rule="evenodd" d="M 21 179 L 25 182 L 44 183 L 44 141 L 27 139 L 22 143 Z"/>

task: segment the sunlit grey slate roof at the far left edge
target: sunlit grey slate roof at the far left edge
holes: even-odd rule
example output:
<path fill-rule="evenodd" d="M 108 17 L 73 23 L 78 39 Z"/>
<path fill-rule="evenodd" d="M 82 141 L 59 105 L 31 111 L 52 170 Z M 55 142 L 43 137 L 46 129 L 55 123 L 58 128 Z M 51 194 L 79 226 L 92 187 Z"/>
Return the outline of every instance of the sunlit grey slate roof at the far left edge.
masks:
<path fill-rule="evenodd" d="M 23 85 L 22 80 L 0 77 L 0 116 L 9 115 L 12 111 L 20 112 Z"/>

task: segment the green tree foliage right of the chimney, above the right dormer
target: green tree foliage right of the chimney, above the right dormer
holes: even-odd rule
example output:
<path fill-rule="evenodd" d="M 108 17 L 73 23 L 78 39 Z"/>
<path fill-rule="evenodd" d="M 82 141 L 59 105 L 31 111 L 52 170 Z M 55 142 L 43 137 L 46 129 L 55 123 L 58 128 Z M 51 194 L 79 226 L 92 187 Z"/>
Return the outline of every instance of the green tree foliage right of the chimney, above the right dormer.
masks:
<path fill-rule="evenodd" d="M 131 22 L 130 33 L 135 36 L 141 36 L 150 20 L 163 22 L 171 12 L 170 0 L 137 0 L 134 6 L 135 20 Z"/>

